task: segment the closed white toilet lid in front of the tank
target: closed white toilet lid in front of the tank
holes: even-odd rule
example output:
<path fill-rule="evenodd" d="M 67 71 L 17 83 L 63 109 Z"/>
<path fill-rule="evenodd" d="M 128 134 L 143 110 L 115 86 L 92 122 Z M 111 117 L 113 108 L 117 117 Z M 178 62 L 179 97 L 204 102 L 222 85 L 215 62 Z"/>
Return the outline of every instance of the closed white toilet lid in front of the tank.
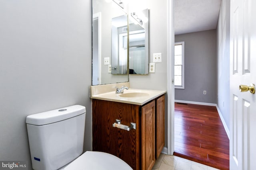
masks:
<path fill-rule="evenodd" d="M 120 158 L 105 152 L 86 151 L 62 170 L 132 170 Z"/>

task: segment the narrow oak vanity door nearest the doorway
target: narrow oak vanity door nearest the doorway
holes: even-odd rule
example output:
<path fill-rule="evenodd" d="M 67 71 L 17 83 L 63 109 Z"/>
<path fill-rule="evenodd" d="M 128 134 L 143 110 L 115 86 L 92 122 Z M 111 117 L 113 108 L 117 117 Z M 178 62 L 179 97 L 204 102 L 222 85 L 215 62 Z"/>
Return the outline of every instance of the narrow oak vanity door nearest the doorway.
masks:
<path fill-rule="evenodd" d="M 162 96 L 156 100 L 156 159 L 164 148 L 164 125 L 165 125 L 165 97 Z"/>

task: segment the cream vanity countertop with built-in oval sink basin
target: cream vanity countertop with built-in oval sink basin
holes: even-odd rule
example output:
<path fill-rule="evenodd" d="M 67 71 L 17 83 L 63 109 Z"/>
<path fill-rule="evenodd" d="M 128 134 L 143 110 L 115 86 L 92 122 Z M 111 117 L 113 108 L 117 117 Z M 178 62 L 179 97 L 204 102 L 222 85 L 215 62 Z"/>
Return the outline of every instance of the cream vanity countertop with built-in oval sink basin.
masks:
<path fill-rule="evenodd" d="M 136 97 L 127 97 L 128 93 L 136 95 Z M 115 91 L 101 93 L 101 94 L 91 94 L 92 99 L 99 99 L 99 100 L 107 100 L 112 102 L 121 102 L 121 103 L 128 103 L 128 104 L 136 104 L 136 105 L 144 105 L 147 102 L 165 94 L 166 91 L 164 90 L 142 90 L 142 89 L 131 89 L 124 90 L 124 93 L 116 94 Z M 129 96 L 129 94 L 128 94 Z"/>

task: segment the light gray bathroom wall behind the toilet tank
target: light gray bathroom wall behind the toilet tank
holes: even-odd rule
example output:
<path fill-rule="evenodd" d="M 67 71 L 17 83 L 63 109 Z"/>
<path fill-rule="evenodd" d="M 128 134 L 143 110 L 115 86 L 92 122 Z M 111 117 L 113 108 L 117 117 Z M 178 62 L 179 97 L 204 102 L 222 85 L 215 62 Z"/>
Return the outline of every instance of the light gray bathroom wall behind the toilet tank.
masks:
<path fill-rule="evenodd" d="M 32 169 L 26 116 L 74 104 L 91 149 L 91 13 L 90 0 L 0 1 L 0 160 Z"/>

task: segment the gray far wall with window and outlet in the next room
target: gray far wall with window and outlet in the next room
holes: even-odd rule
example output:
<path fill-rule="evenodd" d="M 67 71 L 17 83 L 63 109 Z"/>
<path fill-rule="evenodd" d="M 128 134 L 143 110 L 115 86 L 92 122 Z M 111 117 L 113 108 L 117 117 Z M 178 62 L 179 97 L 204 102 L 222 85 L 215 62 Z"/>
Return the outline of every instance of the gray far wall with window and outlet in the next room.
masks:
<path fill-rule="evenodd" d="M 216 104 L 216 29 L 175 35 L 180 41 L 185 42 L 185 89 L 175 89 L 175 100 Z"/>

